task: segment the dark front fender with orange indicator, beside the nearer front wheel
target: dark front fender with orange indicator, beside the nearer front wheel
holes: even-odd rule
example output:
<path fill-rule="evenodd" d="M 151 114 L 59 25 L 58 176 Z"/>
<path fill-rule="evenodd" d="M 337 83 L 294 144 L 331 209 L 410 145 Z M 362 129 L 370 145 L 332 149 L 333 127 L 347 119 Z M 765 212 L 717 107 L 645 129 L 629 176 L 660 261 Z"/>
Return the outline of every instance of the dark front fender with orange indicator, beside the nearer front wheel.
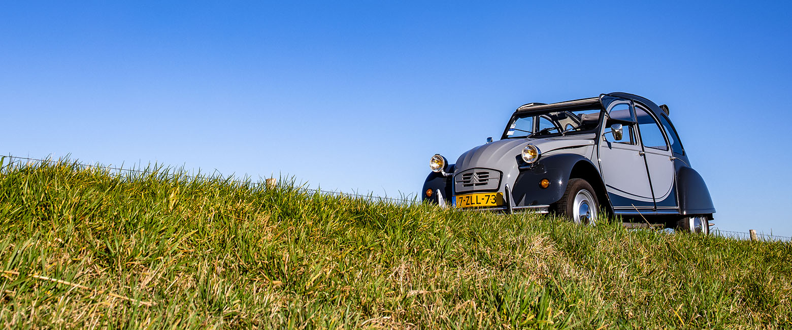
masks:
<path fill-rule="evenodd" d="M 550 205 L 558 202 L 566 191 L 573 167 L 579 161 L 591 163 L 580 154 L 555 154 L 539 159 L 530 167 L 521 167 L 520 175 L 512 188 L 516 206 Z M 542 179 L 550 180 L 550 186 L 540 187 L 539 182 Z"/>

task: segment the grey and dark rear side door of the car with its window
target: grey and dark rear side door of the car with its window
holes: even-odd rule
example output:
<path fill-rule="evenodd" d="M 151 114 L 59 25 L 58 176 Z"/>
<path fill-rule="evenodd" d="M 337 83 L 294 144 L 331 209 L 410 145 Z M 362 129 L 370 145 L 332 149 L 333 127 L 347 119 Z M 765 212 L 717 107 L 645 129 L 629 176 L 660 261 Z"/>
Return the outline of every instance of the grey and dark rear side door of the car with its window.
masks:
<path fill-rule="evenodd" d="M 676 192 L 674 191 L 674 162 L 668 139 L 652 112 L 641 105 L 635 106 L 638 122 L 638 136 L 641 139 L 649 182 L 658 212 L 676 212 Z"/>

